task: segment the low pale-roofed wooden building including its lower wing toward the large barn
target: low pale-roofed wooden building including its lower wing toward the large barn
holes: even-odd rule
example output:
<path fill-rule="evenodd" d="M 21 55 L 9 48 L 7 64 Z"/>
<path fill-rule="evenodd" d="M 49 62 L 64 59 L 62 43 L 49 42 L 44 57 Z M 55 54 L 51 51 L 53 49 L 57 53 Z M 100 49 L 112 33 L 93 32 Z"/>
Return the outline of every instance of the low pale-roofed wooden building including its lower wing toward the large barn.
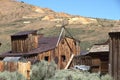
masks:
<path fill-rule="evenodd" d="M 101 44 L 94 44 L 88 52 L 75 56 L 75 65 L 90 66 L 91 72 L 108 73 L 109 64 L 109 41 Z"/>

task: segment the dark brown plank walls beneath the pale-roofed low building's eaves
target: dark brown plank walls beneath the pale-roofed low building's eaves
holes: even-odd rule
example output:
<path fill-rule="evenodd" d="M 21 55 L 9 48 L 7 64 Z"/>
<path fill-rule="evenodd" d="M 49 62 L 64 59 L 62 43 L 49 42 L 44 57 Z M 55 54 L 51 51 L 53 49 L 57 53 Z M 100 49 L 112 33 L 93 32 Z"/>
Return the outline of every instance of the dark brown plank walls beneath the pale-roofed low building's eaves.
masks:
<path fill-rule="evenodd" d="M 106 56 L 104 56 L 105 58 Z M 108 60 L 102 60 L 100 56 L 75 56 L 73 59 L 74 65 L 87 65 L 91 67 L 91 72 L 101 72 L 102 74 L 108 73 Z"/>

